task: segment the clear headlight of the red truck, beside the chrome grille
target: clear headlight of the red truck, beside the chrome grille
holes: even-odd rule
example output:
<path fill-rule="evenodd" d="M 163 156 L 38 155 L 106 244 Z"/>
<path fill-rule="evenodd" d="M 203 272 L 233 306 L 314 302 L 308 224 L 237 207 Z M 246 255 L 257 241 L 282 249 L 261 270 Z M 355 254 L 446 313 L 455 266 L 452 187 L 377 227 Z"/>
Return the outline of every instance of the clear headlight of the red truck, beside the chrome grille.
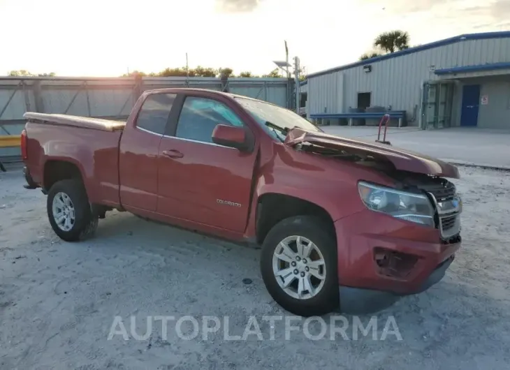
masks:
<path fill-rule="evenodd" d="M 425 194 L 407 193 L 367 182 L 359 182 L 358 190 L 368 209 L 434 227 L 435 211 Z"/>

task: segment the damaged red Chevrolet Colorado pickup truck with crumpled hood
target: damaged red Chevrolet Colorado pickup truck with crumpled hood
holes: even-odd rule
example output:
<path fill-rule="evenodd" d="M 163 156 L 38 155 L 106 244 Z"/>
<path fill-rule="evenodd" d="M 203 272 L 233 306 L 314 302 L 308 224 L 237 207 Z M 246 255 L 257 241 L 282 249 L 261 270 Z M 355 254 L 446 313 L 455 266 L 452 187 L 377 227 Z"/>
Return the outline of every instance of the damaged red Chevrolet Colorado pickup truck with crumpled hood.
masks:
<path fill-rule="evenodd" d="M 48 195 L 61 239 L 117 209 L 256 242 L 270 295 L 298 315 L 383 309 L 441 280 L 460 248 L 456 167 L 264 101 L 160 89 L 126 122 L 24 117 L 25 187 Z"/>

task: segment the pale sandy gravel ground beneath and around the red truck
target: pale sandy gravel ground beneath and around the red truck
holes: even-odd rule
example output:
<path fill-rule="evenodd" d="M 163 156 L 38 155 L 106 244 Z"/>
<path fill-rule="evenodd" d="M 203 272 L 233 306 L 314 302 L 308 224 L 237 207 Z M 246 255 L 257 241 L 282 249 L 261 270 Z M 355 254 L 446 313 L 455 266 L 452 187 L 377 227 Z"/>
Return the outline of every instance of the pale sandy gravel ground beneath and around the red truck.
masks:
<path fill-rule="evenodd" d="M 445 279 L 378 313 L 377 340 L 355 340 L 349 328 L 347 340 L 317 341 L 304 320 L 293 322 L 303 330 L 289 340 L 284 321 L 275 323 L 270 340 L 263 316 L 286 313 L 265 291 L 256 249 L 126 213 L 110 214 L 88 242 L 61 242 L 45 196 L 24 190 L 20 171 L 0 172 L 0 369 L 508 369 L 510 172 L 461 172 L 464 243 Z M 115 316 L 128 340 L 108 340 Z M 136 340 L 131 316 L 139 335 L 147 316 L 193 316 L 200 333 L 185 340 L 175 321 L 168 333 L 155 321 L 147 339 Z M 202 316 L 221 316 L 220 330 L 204 337 Z M 262 341 L 225 339 L 227 330 L 242 335 L 250 316 Z M 400 341 L 380 340 L 391 317 Z M 308 328 L 318 334 L 321 325 Z M 182 325 L 184 334 L 192 329 Z"/>

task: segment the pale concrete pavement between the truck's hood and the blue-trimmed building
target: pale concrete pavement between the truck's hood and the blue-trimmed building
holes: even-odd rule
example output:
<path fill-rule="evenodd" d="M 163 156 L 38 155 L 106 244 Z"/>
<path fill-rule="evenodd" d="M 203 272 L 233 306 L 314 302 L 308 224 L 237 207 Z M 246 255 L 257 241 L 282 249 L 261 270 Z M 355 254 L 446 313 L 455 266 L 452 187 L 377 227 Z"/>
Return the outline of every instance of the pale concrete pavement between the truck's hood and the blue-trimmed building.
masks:
<path fill-rule="evenodd" d="M 378 132 L 378 128 L 373 126 L 321 128 L 326 133 L 369 142 L 377 139 Z M 395 147 L 418 150 L 444 161 L 510 168 L 509 129 L 456 127 L 423 131 L 416 127 L 390 127 L 386 140 Z"/>

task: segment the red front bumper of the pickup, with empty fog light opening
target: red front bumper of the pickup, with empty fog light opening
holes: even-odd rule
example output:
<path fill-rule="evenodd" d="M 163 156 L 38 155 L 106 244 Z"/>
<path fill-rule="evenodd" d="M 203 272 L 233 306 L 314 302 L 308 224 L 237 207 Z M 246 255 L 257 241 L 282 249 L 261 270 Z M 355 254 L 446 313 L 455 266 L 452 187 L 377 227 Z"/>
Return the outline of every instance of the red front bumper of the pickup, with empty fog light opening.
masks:
<path fill-rule="evenodd" d="M 439 230 L 363 210 L 335 222 L 340 308 L 369 313 L 391 306 L 403 295 L 421 293 L 441 281 L 460 248 L 460 236 L 448 242 Z M 402 271 L 383 269 L 377 251 L 409 256 Z"/>

